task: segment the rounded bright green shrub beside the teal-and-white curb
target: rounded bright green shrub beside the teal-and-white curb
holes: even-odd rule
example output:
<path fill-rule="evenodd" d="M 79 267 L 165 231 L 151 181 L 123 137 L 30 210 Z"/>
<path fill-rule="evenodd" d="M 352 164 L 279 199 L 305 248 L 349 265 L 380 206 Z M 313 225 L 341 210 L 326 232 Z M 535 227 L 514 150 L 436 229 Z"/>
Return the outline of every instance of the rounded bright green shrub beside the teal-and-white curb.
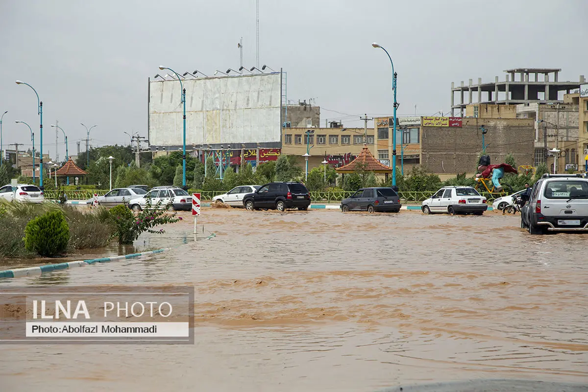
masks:
<path fill-rule="evenodd" d="M 58 256 L 69 242 L 69 226 L 64 213 L 49 211 L 32 219 L 25 227 L 25 249 L 40 256 Z"/>

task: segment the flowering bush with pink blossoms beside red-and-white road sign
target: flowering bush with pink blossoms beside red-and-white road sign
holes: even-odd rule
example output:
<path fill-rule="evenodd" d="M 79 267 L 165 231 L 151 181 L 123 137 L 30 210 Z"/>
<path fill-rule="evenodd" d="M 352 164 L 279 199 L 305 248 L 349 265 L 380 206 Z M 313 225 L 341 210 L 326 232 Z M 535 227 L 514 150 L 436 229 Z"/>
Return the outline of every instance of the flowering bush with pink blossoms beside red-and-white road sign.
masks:
<path fill-rule="evenodd" d="M 125 205 L 113 207 L 110 213 L 116 224 L 118 243 L 132 244 L 143 232 L 165 233 L 165 230 L 153 230 L 153 227 L 182 220 L 181 217 L 176 217 L 175 212 L 166 212 L 168 207 L 171 207 L 171 205 L 161 208 L 161 202 L 152 207 L 149 199 L 145 208 L 138 215 L 134 215 Z"/>

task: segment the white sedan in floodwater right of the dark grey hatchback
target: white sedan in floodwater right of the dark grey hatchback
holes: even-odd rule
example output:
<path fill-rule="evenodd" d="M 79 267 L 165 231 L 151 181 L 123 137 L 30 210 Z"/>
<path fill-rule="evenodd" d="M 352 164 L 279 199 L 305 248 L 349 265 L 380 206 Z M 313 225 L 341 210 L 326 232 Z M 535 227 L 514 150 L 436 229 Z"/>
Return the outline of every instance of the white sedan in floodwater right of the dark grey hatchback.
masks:
<path fill-rule="evenodd" d="M 482 215 L 488 206 L 486 197 L 471 186 L 444 186 L 435 195 L 426 199 L 421 206 L 423 213 L 472 213 Z"/>

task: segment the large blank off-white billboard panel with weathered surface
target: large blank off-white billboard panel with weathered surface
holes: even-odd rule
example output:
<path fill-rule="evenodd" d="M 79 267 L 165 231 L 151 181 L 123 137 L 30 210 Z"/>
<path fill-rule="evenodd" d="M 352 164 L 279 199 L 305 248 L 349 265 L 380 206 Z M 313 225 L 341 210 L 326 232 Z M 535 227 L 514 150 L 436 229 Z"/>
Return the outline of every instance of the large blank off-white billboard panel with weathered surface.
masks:
<path fill-rule="evenodd" d="M 186 145 L 281 140 L 281 73 L 182 79 Z M 178 79 L 149 83 L 149 143 L 182 145 Z"/>

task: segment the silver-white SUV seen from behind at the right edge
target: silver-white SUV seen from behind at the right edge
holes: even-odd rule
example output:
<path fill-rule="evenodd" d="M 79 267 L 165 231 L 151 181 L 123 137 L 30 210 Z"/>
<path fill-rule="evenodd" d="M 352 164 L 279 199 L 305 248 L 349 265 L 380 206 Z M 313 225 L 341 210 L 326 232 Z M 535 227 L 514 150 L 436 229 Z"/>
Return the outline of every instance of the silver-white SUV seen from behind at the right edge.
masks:
<path fill-rule="evenodd" d="M 588 230 L 586 176 L 544 174 L 521 210 L 520 226 L 530 234 Z"/>

